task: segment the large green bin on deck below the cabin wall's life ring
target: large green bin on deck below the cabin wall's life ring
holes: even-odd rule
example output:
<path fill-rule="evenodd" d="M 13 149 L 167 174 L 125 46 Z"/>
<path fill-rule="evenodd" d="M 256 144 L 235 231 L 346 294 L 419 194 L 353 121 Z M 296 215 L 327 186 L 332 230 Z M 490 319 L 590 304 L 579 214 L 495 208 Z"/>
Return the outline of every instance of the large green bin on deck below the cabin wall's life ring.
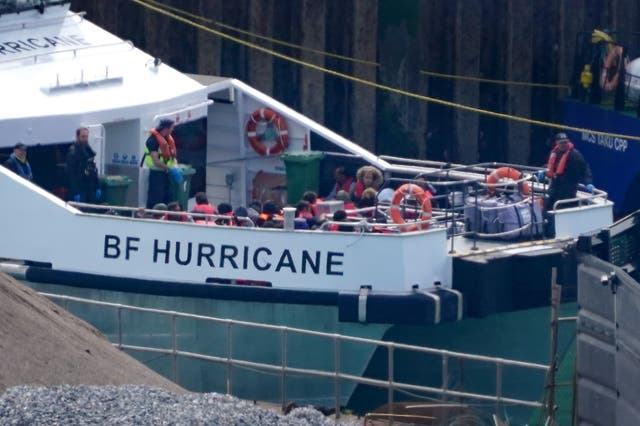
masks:
<path fill-rule="evenodd" d="M 284 154 L 282 160 L 287 169 L 287 201 L 296 204 L 305 191 L 318 192 L 320 187 L 320 160 L 324 154 L 318 151 L 300 151 Z"/>

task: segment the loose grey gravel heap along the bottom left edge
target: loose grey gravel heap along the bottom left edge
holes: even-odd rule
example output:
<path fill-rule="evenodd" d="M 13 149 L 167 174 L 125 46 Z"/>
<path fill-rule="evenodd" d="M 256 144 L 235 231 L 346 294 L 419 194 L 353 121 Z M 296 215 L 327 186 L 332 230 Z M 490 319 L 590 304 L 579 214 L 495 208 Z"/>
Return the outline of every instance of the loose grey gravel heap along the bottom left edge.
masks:
<path fill-rule="evenodd" d="M 280 415 L 232 396 L 149 386 L 15 386 L 0 398 L 0 425 L 305 425 L 336 423 L 301 407 Z M 338 423 L 355 426 L 361 422 Z"/>

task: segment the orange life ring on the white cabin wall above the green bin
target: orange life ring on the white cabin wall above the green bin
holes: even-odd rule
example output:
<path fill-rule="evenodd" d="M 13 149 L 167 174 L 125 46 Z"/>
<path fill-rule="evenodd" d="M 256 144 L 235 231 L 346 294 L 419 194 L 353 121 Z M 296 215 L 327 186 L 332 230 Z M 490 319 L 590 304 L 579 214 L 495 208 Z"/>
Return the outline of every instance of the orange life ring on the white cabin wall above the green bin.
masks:
<path fill-rule="evenodd" d="M 259 124 L 266 125 L 265 130 L 260 134 L 257 132 Z M 275 131 L 275 142 L 271 146 L 266 146 L 262 139 L 269 129 Z M 289 133 L 284 120 L 269 108 L 260 108 L 251 113 L 247 122 L 247 137 L 253 150 L 260 155 L 279 154 L 289 146 Z"/>

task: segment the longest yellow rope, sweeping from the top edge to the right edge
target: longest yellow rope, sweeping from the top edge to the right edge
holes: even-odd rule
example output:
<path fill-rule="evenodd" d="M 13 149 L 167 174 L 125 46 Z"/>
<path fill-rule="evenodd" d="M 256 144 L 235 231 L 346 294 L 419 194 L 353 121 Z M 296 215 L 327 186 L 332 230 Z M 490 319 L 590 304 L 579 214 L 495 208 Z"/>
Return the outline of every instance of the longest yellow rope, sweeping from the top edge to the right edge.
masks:
<path fill-rule="evenodd" d="M 571 130 L 574 132 L 589 132 L 592 133 L 594 135 L 602 135 L 602 136 L 611 136 L 611 137 L 617 137 L 617 138 L 625 138 L 625 139 L 629 139 L 629 140 L 636 140 L 636 141 L 640 141 L 640 136 L 632 136 L 632 135 L 625 135 L 625 134 L 621 134 L 621 133 L 607 133 L 607 132 L 601 132 L 598 130 L 592 130 L 592 129 L 587 129 L 587 128 L 583 128 L 583 127 L 573 127 L 573 126 L 565 126 L 562 124 L 558 124 L 558 123 L 549 123 L 546 121 L 541 121 L 541 120 L 534 120 L 534 119 L 530 119 L 530 118 L 526 118 L 526 117 L 520 117 L 517 115 L 510 115 L 510 114 L 503 114 L 503 113 L 499 113 L 499 112 L 495 112 L 495 111 L 489 111 L 489 110 L 483 110 L 480 108 L 475 108 L 475 107 L 471 107 L 468 105 L 463 105 L 463 104 L 459 104 L 459 103 L 455 103 L 455 102 L 450 102 L 450 101 L 445 101 L 442 99 L 438 99 L 438 98 L 432 98 L 429 96 L 424 96 L 424 95 L 420 95 L 417 93 L 412 93 L 403 89 L 397 89 L 391 86 L 386 86 L 384 84 L 380 84 L 380 83 L 376 83 L 376 82 L 372 82 L 372 81 L 367 81 L 358 77 L 354 77 L 352 75 L 349 74 L 344 74 L 338 71 L 334 71 L 328 68 L 324 68 L 318 65 L 314 65 L 308 62 L 304 62 L 300 59 L 296 59 L 296 58 L 292 58 L 290 56 L 284 55 L 282 53 L 276 52 L 274 50 L 270 50 L 267 48 L 264 48 L 262 46 L 258 46 L 256 44 L 253 43 L 249 43 L 245 40 L 239 39 L 237 37 L 233 37 L 230 36 L 228 34 L 225 34 L 223 32 L 214 30 L 212 28 L 208 28 L 205 27 L 204 25 L 198 24 L 197 22 L 193 22 L 193 21 L 189 21 L 186 18 L 183 18 L 181 16 L 177 16 L 174 15 L 166 10 L 162 10 L 158 7 L 152 6 L 150 4 L 145 3 L 142 0 L 130 0 L 136 4 L 139 4 L 140 6 L 146 7 L 147 9 L 153 10 L 155 12 L 158 12 L 160 14 L 163 14 L 165 16 L 169 16 L 177 21 L 180 21 L 182 23 L 185 23 L 187 25 L 191 25 L 194 28 L 199 28 L 202 31 L 206 31 L 209 32 L 211 34 L 215 34 L 219 37 L 225 38 L 227 40 L 231 40 L 233 42 L 236 42 L 238 44 L 241 44 L 243 46 L 249 47 L 251 49 L 255 49 L 258 50 L 260 52 L 263 53 L 267 53 L 269 55 L 275 56 L 276 58 L 280 58 L 283 59 L 285 61 L 289 61 L 292 62 L 294 64 L 298 64 L 301 66 L 305 66 L 311 69 L 314 69 L 316 71 L 321 71 L 324 72 L 326 74 L 329 75 L 333 75 L 335 77 L 339 77 L 339 78 L 343 78 L 345 80 L 349 80 L 349 81 L 353 81 L 356 83 L 360 83 L 360 84 L 364 84 L 370 87 L 375 87 L 376 89 L 380 89 L 380 90 L 385 90 L 387 92 L 391 92 L 391 93 L 397 93 L 399 95 L 404 95 L 410 98 L 414 98 L 414 99 L 419 99 L 425 102 L 431 102 L 434 104 L 438 104 L 438 105 L 444 105 L 444 106 L 448 106 L 448 107 L 452 107 L 452 108 L 458 108 L 461 109 L 463 111 L 470 111 L 470 112 L 475 112 L 478 114 L 483 114 L 483 115 L 487 115 L 490 117 L 496 117 L 496 118 L 502 118 L 505 120 L 511 120 L 511 121 L 515 121 L 515 122 L 519 122 L 519 123 L 526 123 L 526 124 L 532 124 L 532 125 L 536 125 L 536 126 L 541 126 L 541 127 L 548 127 L 548 128 L 552 128 L 552 129 L 558 129 L 558 130 Z"/>

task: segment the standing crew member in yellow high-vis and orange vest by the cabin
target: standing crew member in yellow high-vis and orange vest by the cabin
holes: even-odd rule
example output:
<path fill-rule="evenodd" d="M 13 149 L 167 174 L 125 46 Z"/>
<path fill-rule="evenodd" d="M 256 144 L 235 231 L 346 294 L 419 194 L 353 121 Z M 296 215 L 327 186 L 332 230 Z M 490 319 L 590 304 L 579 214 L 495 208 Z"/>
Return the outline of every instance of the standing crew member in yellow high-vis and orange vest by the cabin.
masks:
<path fill-rule="evenodd" d="M 171 136 L 174 123 L 172 120 L 160 120 L 147 139 L 144 148 L 144 162 L 149 168 L 149 190 L 147 192 L 147 208 L 157 203 L 168 204 L 173 201 L 171 181 L 181 180 L 182 170 L 178 167 L 178 151 Z"/>

